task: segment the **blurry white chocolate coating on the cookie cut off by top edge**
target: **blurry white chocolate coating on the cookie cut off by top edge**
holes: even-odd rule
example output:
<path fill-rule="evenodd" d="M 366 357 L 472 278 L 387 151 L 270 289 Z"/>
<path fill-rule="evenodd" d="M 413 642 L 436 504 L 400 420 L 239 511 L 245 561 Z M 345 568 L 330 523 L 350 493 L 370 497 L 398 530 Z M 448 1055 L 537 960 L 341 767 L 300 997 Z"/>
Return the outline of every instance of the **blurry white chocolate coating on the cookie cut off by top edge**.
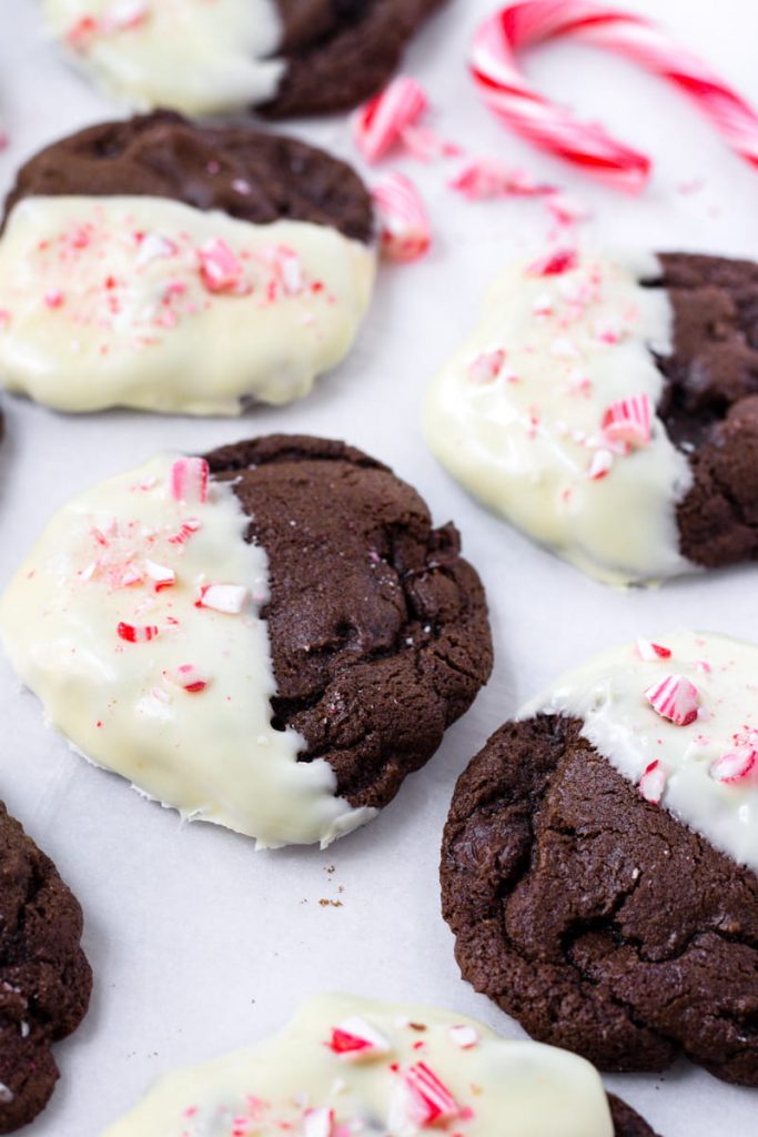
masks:
<path fill-rule="evenodd" d="M 43 0 L 49 33 L 108 96 L 136 110 L 210 115 L 276 94 L 274 0 Z"/>

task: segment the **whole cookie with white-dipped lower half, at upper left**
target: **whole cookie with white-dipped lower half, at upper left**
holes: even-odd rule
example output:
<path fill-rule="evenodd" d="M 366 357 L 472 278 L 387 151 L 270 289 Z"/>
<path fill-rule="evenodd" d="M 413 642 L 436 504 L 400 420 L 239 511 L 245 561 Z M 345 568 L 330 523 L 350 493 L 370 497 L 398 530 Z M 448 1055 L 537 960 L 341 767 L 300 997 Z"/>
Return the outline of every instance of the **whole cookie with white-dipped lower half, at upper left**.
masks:
<path fill-rule="evenodd" d="M 19 172 L 0 235 L 0 381 L 60 410 L 239 414 L 307 395 L 375 274 L 344 163 L 157 114 L 89 127 Z"/>

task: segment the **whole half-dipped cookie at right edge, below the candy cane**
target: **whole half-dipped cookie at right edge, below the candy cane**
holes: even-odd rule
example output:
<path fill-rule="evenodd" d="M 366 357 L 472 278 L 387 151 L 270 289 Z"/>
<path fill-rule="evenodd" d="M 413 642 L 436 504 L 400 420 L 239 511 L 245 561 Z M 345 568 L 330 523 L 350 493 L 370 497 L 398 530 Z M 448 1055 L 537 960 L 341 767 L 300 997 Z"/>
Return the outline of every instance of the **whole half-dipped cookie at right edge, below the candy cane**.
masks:
<path fill-rule="evenodd" d="M 758 555 L 758 266 L 559 250 L 514 265 L 427 398 L 472 493 L 614 584 Z"/>

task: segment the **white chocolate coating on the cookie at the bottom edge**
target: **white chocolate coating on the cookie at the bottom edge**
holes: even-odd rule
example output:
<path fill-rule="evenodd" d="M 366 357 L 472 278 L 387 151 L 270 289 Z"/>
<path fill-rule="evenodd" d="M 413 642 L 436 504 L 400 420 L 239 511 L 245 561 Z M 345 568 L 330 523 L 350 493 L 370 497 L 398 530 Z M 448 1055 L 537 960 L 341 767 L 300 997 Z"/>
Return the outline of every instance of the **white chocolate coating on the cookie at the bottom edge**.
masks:
<path fill-rule="evenodd" d="M 389 1053 L 361 1061 L 333 1053 L 332 1030 L 355 1016 L 384 1036 Z M 474 1031 L 473 1046 L 455 1040 L 450 1030 L 456 1026 Z M 415 1123 L 402 1110 L 403 1073 L 419 1062 L 456 1101 L 459 1113 L 447 1123 Z M 316 1113 L 322 1128 L 309 1111 L 324 1111 Z M 540 1043 L 507 1041 L 451 1011 L 338 995 L 308 1002 L 268 1043 L 161 1078 L 102 1137 L 280 1137 L 284 1131 L 293 1137 L 613 1137 L 614 1127 L 602 1082 L 584 1059 Z"/>

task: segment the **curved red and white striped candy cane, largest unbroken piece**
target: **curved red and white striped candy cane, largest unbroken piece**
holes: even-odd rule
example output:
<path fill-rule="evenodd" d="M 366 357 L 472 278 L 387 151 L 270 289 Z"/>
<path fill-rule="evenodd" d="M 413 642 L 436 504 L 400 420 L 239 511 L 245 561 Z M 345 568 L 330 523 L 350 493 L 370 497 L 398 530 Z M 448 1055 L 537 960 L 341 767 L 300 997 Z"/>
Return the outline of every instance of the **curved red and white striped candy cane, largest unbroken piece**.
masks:
<path fill-rule="evenodd" d="M 667 78 L 738 153 L 758 166 L 758 115 L 752 107 L 650 20 L 592 0 L 520 0 L 501 8 L 476 33 L 470 67 L 484 101 L 531 142 L 632 192 L 641 190 L 650 174 L 647 155 L 550 102 L 519 70 L 517 52 L 559 35 L 617 51 Z"/>

